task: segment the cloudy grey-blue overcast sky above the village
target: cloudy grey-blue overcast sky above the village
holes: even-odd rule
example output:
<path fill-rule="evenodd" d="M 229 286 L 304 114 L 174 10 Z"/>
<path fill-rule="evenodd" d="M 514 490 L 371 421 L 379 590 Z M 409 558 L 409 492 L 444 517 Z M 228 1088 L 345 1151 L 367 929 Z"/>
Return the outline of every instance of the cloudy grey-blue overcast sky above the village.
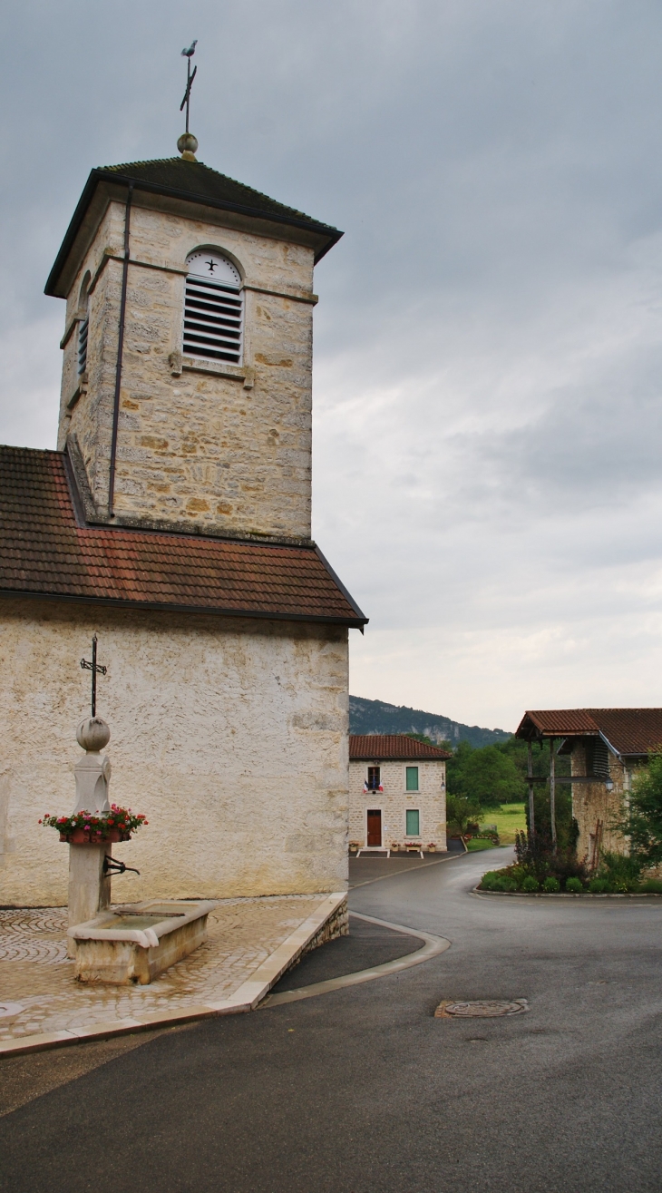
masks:
<path fill-rule="evenodd" d="M 43 286 L 93 166 L 177 153 L 345 230 L 314 534 L 351 691 L 514 729 L 662 704 L 660 0 L 20 0 L 2 17 L 0 440 L 54 447 Z"/>

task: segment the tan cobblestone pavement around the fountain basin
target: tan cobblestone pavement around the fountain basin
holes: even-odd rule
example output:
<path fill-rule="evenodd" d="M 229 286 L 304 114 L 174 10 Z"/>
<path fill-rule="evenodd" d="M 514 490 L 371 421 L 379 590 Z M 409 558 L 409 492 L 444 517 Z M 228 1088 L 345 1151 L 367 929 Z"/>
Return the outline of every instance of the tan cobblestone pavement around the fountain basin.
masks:
<path fill-rule="evenodd" d="M 324 895 L 219 900 L 209 939 L 149 985 L 87 987 L 67 957 L 67 909 L 0 910 L 0 1040 L 35 1032 L 85 1031 L 100 1020 L 143 1019 L 229 999 L 323 903 Z M 14 1008 L 16 1009 L 16 1008 Z M 0 1012 L 1 1015 L 1 1012 Z"/>

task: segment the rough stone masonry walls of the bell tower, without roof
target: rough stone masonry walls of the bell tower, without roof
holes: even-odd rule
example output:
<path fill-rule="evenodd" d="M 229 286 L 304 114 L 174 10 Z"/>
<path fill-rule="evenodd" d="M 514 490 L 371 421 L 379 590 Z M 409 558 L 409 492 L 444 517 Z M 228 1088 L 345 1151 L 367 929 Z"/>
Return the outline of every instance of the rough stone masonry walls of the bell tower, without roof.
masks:
<path fill-rule="evenodd" d="M 313 248 L 231 227 L 222 212 L 194 220 L 150 202 L 136 192 L 131 209 L 116 521 L 308 539 Z M 123 236 L 124 205 L 111 202 L 67 299 L 58 446 L 75 435 L 101 518 L 109 508 Z M 186 256 L 200 246 L 229 255 L 242 274 L 241 367 L 181 357 Z M 81 385 L 76 319 L 87 273 Z"/>

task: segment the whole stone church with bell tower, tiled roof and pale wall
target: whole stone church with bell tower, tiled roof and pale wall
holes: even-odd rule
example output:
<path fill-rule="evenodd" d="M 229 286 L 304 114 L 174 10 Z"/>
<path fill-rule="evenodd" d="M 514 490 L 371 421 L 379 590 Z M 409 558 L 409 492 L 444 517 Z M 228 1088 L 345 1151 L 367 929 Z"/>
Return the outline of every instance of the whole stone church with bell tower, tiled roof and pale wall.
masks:
<path fill-rule="evenodd" d="M 47 284 L 57 451 L 0 449 L 0 903 L 62 904 L 78 723 L 149 827 L 115 898 L 341 890 L 348 630 L 311 540 L 313 271 L 341 233 L 191 154 L 93 169 Z M 122 884 L 122 885 L 120 885 Z"/>

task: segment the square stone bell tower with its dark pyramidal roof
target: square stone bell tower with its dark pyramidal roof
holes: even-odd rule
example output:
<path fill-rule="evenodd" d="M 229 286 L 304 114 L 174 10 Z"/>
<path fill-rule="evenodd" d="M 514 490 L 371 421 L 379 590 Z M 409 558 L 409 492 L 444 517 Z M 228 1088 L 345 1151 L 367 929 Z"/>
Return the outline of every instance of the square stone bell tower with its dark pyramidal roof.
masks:
<path fill-rule="evenodd" d="M 91 524 L 307 542 L 313 268 L 342 234 L 180 148 L 89 174 L 45 290 L 58 447 Z"/>

